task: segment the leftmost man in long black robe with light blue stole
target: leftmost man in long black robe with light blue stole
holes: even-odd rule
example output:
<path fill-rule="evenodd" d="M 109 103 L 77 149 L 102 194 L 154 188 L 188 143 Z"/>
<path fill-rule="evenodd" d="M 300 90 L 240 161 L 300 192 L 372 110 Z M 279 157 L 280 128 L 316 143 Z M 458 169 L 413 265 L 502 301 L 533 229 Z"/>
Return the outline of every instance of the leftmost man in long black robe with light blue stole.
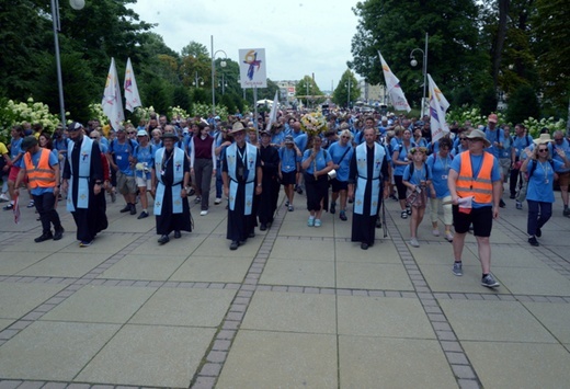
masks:
<path fill-rule="evenodd" d="M 73 122 L 64 165 L 61 191 L 67 193 L 67 209 L 73 215 L 79 247 L 91 245 L 98 232 L 106 229 L 104 213 L 103 164 L 99 145 L 83 135 L 83 126 Z"/>

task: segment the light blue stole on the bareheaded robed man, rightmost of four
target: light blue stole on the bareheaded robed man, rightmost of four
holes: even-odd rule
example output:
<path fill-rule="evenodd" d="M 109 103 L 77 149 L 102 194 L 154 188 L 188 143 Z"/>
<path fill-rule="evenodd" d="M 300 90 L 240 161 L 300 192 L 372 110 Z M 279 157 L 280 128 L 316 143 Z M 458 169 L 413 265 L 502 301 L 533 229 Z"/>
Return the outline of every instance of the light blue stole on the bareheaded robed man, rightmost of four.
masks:
<path fill-rule="evenodd" d="M 366 190 L 366 181 L 368 180 L 367 161 L 366 161 L 366 144 L 356 147 L 356 169 L 358 176 L 356 179 L 356 191 L 354 193 L 354 213 L 363 215 L 364 213 L 364 192 Z M 375 216 L 378 208 L 380 195 L 380 172 L 384 161 L 384 147 L 374 142 L 374 168 L 372 171 L 372 194 L 371 194 L 371 216 Z"/>

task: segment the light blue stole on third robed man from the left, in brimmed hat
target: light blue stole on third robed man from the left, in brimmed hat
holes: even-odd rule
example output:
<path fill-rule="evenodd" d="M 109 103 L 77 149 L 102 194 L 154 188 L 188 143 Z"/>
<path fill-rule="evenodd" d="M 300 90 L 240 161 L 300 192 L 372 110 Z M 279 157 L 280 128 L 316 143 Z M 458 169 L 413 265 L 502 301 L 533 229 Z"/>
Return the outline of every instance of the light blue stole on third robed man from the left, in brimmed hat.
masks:
<path fill-rule="evenodd" d="M 253 190 L 255 187 L 255 164 L 258 159 L 258 148 L 253 145 L 246 144 L 246 156 L 243 167 L 248 169 L 248 176 L 246 178 L 246 215 L 251 215 L 251 207 L 253 205 Z M 237 175 L 237 158 L 238 146 L 231 144 L 226 149 L 226 159 L 228 162 L 229 181 L 229 209 L 236 208 L 236 195 L 238 193 L 238 175 Z"/>

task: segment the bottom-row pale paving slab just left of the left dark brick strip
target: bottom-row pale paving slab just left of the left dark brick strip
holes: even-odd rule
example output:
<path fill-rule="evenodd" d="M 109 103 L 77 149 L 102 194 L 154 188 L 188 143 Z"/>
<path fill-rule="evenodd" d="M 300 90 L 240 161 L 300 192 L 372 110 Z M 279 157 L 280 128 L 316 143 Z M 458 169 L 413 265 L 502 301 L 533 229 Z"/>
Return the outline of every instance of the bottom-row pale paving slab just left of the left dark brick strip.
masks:
<path fill-rule="evenodd" d="M 213 335 L 213 329 L 126 325 L 75 380 L 187 388 Z"/>

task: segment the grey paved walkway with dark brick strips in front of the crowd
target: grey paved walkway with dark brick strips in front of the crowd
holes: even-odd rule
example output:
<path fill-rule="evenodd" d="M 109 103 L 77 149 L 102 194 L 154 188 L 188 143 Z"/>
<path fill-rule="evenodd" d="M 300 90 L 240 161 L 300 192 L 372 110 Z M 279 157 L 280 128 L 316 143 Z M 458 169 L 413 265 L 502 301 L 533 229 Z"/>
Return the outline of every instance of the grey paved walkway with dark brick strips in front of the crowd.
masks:
<path fill-rule="evenodd" d="M 1 213 L 0 389 L 568 387 L 570 219 L 558 193 L 539 248 L 508 201 L 491 237 L 495 290 L 479 284 L 472 236 L 456 277 L 428 218 L 421 247 L 407 244 L 396 202 L 389 237 L 377 230 L 363 251 L 351 214 L 309 228 L 296 199 L 237 251 L 224 205 L 194 206 L 195 231 L 163 247 L 155 219 L 119 214 L 121 201 L 86 249 L 65 210 L 64 239 L 44 243 L 33 210 L 19 225 Z"/>

